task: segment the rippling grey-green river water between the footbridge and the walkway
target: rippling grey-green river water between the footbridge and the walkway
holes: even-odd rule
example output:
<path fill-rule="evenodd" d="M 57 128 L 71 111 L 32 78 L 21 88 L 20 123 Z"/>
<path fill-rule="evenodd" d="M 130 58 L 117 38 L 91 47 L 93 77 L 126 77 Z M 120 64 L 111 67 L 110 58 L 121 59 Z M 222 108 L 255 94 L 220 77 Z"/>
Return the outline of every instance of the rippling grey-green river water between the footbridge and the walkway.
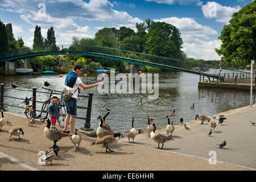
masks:
<path fill-rule="evenodd" d="M 154 73 L 152 74 L 154 77 Z M 65 77 L 63 75 L 31 75 L 31 76 L 0 76 L 1 83 L 5 86 L 10 84 L 18 85 L 20 89 L 38 88 L 44 91 L 44 81 L 49 82 L 48 88 L 62 90 Z M 81 77 L 85 84 L 98 82 L 97 74 L 88 74 L 87 77 Z M 154 79 L 153 79 L 154 80 Z M 191 73 L 180 72 L 160 72 L 159 73 L 159 96 L 155 100 L 149 100 L 149 93 L 99 93 L 97 88 L 83 90 L 82 95 L 94 93 L 92 105 L 91 128 L 97 130 L 99 121 L 96 119 L 99 115 L 106 114 L 106 108 L 111 112 L 106 118 L 106 122 L 114 131 L 124 132 L 131 129 L 131 118 L 135 118 L 135 129 L 146 131 L 147 115 L 155 119 L 156 129 L 162 129 L 167 125 L 166 116 L 175 109 L 175 116 L 170 117 L 174 123 L 179 123 L 182 117 L 185 121 L 195 119 L 197 114 L 212 115 L 222 111 L 236 109 L 238 107 L 250 105 L 250 91 L 230 90 L 230 89 L 210 89 L 198 88 L 199 76 Z M 115 81 L 118 84 L 118 81 Z M 32 97 L 32 92 L 23 92 L 20 90 L 5 89 L 5 94 L 19 98 Z M 211 98 L 217 98 L 216 102 L 211 102 Z M 139 106 L 140 98 L 143 105 Z M 37 100 L 44 101 L 46 94 L 37 93 Z M 24 106 L 22 100 L 5 98 L 5 103 Z M 81 98 L 79 106 L 87 106 L 88 98 Z M 189 106 L 195 103 L 195 109 L 189 109 Z M 255 104 L 255 92 L 253 93 L 253 104 Z M 36 108 L 40 110 L 42 104 L 38 103 Z M 24 114 L 24 109 L 5 106 L 10 112 Z M 37 112 L 39 114 L 39 112 Z M 86 110 L 78 110 L 79 117 L 86 117 Z M 76 120 L 76 127 L 84 127 L 82 119 Z"/>

